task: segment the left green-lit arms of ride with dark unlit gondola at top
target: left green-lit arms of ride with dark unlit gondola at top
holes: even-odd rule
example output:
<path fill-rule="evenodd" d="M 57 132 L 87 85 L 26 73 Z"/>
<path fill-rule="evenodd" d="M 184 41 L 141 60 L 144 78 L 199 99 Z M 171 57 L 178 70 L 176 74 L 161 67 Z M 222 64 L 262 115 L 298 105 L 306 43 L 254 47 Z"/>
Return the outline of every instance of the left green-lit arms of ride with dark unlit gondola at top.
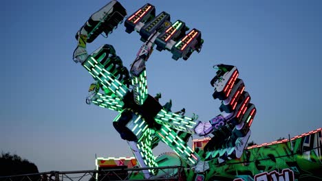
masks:
<path fill-rule="evenodd" d="M 96 104 L 111 110 L 122 110 L 122 98 L 129 92 L 129 71 L 123 67 L 122 60 L 116 56 L 111 45 L 103 45 L 91 55 L 87 54 L 86 44 L 92 43 L 99 34 L 110 34 L 122 23 L 127 14 L 125 8 L 118 1 L 111 1 L 103 8 L 92 14 L 89 20 L 76 33 L 78 46 L 74 51 L 74 61 L 80 62 L 94 77 L 96 82 L 90 88 L 87 104 Z M 91 86 L 91 87 L 92 87 Z M 99 93 L 100 88 L 103 93 Z"/>

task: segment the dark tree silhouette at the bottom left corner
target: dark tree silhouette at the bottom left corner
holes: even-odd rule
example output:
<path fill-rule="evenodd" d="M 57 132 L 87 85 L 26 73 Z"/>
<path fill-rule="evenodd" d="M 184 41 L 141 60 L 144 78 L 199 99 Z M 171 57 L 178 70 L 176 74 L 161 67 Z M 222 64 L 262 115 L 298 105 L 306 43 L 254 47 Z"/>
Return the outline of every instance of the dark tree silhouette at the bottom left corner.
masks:
<path fill-rule="evenodd" d="M 0 176 L 16 176 L 28 173 L 39 173 L 34 163 L 21 158 L 17 154 L 1 153 L 0 155 Z M 32 180 L 38 180 L 38 176 L 34 176 Z M 21 180 L 21 178 L 12 178 L 12 180 Z"/>

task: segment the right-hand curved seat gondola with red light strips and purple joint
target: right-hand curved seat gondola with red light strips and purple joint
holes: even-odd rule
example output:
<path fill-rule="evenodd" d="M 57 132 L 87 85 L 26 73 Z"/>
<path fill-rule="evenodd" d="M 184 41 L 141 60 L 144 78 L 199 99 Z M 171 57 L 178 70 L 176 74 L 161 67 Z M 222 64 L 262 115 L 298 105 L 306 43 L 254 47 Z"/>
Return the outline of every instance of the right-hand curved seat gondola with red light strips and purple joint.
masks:
<path fill-rule="evenodd" d="M 244 82 L 237 78 L 237 68 L 226 64 L 216 67 L 218 71 L 211 85 L 215 87 L 213 98 L 222 101 L 219 107 L 222 113 L 211 121 L 198 123 L 195 132 L 200 136 L 213 135 L 204 147 L 205 159 L 219 158 L 219 162 L 224 162 L 241 157 L 250 136 L 256 108 L 244 91 Z"/>

